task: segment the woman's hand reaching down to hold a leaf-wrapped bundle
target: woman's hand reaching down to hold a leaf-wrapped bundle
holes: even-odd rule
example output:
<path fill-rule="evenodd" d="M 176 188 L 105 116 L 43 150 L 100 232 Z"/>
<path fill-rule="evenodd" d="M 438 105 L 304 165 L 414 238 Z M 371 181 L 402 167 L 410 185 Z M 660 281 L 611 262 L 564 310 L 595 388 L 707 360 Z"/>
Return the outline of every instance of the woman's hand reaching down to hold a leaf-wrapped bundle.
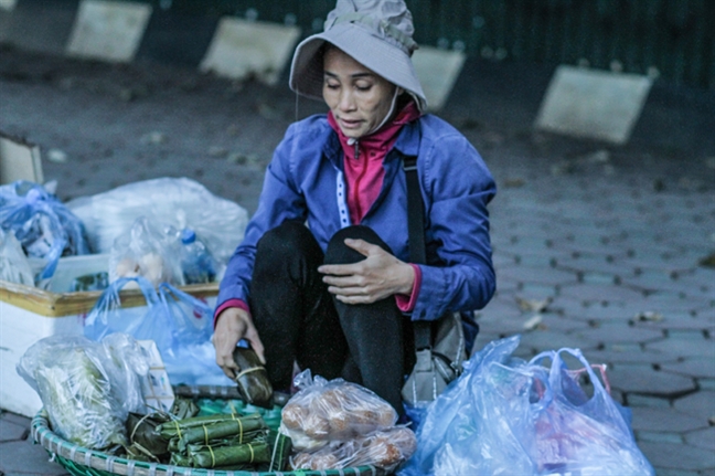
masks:
<path fill-rule="evenodd" d="M 266 363 L 263 342 L 250 315 L 239 307 L 224 309 L 216 318 L 216 328 L 211 340 L 216 349 L 216 363 L 231 380 L 236 378 L 238 371 L 233 352 L 241 339 L 250 342 L 260 361 Z"/>

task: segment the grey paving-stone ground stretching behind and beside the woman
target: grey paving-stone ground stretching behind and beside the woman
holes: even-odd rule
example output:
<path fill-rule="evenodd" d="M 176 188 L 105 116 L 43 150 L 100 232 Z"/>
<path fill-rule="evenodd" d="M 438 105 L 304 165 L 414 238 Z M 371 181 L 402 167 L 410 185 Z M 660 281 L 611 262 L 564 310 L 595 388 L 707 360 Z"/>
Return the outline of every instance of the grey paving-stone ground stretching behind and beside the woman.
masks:
<path fill-rule="evenodd" d="M 524 358 L 580 348 L 609 366 L 659 475 L 714 475 L 715 269 L 700 262 L 715 252 L 715 150 L 686 140 L 684 119 L 658 121 L 686 118 L 693 104 L 715 117 L 715 99 L 657 89 L 631 144 L 615 147 L 533 133 L 547 76 L 500 67 L 472 65 L 441 113 L 499 186 L 498 293 L 479 314 L 477 346 L 521 334 Z M 0 52 L 0 130 L 66 152 L 66 162 L 43 162 L 65 200 L 185 176 L 253 212 L 285 128 L 319 110 L 284 88 L 169 66 Z M 147 140 L 151 133 L 163 139 Z M 0 474 L 65 474 L 28 427 L 0 414 Z"/>

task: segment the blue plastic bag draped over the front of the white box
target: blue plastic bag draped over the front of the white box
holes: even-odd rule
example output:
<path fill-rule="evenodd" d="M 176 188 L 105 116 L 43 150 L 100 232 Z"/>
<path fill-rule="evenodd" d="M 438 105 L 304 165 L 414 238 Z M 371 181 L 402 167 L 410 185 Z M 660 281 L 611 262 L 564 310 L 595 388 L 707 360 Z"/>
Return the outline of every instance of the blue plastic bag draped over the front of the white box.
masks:
<path fill-rule="evenodd" d="M 139 286 L 147 306 L 121 307 L 119 290 L 129 283 Z M 215 362 L 212 317 L 209 305 L 170 284 L 154 289 L 141 276 L 120 278 L 87 315 L 84 334 L 97 341 L 113 332 L 153 340 L 174 385 L 234 385 Z"/>

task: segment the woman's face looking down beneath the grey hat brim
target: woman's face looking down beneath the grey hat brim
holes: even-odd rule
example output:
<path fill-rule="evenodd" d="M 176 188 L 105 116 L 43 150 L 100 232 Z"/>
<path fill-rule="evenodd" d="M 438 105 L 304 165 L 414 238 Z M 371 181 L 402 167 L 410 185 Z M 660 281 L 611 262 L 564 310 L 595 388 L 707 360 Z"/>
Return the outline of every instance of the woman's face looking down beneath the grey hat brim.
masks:
<path fill-rule="evenodd" d="M 323 57 L 323 99 L 340 130 L 353 139 L 371 133 L 389 113 L 395 85 L 329 47 Z"/>

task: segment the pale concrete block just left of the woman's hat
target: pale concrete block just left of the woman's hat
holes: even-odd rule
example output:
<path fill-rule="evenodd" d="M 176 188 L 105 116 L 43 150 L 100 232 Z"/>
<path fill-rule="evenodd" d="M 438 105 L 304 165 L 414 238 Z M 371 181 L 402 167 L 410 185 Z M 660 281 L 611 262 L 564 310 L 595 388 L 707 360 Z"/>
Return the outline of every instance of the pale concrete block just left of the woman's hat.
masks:
<path fill-rule="evenodd" d="M 234 80 L 255 75 L 258 81 L 275 85 L 299 36 L 298 27 L 224 17 L 200 70 Z"/>

